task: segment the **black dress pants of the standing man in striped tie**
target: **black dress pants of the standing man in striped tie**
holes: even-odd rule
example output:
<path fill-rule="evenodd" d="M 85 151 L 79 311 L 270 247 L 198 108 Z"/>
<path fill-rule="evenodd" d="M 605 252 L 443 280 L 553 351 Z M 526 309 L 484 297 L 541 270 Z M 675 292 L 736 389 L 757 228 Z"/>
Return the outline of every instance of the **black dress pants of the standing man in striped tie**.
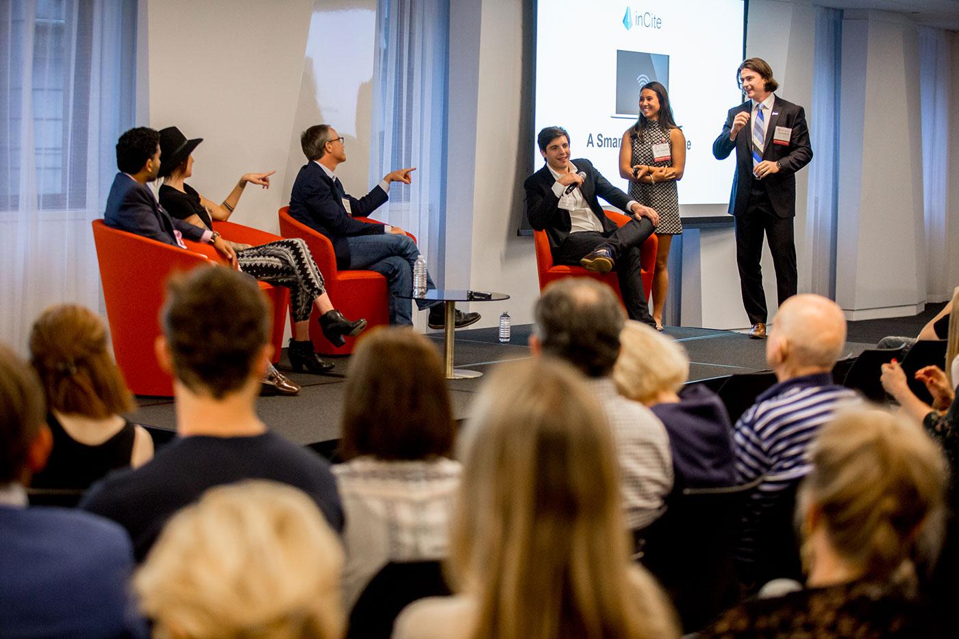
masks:
<path fill-rule="evenodd" d="M 793 219 L 781 218 L 773 211 L 769 195 L 761 185 L 749 193 L 746 212 L 736 218 L 736 261 L 739 267 L 739 287 L 742 305 L 750 323 L 765 323 L 766 294 L 762 289 L 762 237 L 769 241 L 776 270 L 776 293 L 779 303 L 796 295 L 796 243 L 793 237 Z"/>

